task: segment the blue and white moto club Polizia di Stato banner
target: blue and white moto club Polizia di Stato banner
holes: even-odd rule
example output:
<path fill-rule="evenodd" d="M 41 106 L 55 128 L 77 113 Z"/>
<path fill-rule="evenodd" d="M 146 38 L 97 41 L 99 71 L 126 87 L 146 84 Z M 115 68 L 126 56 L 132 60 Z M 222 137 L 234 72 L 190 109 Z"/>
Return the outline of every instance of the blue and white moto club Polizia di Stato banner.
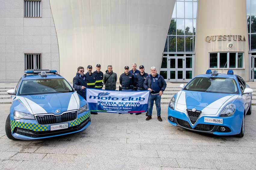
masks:
<path fill-rule="evenodd" d="M 114 91 L 86 88 L 91 112 L 146 112 L 150 91 Z"/>

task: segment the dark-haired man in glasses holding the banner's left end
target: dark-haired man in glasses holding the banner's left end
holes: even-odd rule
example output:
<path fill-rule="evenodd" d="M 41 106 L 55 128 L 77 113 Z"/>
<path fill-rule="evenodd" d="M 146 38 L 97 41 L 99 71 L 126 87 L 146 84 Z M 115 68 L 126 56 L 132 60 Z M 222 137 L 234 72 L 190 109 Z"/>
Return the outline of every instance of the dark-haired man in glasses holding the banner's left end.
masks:
<path fill-rule="evenodd" d="M 80 66 L 77 68 L 76 76 L 73 78 L 73 88 L 76 89 L 77 94 L 86 100 L 85 88 L 87 88 L 87 83 L 84 71 L 84 67 Z"/>

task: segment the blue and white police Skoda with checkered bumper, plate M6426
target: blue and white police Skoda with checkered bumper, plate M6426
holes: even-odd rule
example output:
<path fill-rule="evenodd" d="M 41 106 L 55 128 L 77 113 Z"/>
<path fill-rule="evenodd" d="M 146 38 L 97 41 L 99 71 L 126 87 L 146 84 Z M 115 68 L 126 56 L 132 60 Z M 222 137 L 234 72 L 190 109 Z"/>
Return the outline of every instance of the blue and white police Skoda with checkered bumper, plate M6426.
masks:
<path fill-rule="evenodd" d="M 51 74 L 49 74 L 51 73 Z M 5 123 L 9 139 L 42 139 L 76 133 L 91 123 L 86 100 L 56 70 L 26 70 Z"/>

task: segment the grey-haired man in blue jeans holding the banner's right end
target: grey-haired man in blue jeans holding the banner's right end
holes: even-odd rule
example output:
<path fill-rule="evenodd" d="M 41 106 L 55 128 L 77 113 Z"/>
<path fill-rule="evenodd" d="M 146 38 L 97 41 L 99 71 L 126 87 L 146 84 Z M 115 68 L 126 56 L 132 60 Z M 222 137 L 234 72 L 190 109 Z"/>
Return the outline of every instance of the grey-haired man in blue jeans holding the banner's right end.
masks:
<path fill-rule="evenodd" d="M 155 100 L 157 119 L 161 122 L 161 96 L 163 91 L 165 91 L 166 82 L 163 76 L 156 73 L 156 67 L 151 67 L 150 73 L 151 74 L 146 77 L 143 84 L 144 88 L 150 91 L 148 100 L 148 117 L 146 118 L 146 121 L 149 121 L 152 118 L 153 104 Z"/>

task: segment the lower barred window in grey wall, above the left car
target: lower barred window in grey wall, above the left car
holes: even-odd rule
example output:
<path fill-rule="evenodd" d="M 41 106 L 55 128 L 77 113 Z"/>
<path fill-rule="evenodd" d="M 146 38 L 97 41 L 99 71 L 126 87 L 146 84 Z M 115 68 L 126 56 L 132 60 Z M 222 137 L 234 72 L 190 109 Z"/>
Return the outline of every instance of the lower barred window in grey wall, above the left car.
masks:
<path fill-rule="evenodd" d="M 41 70 L 41 54 L 25 54 L 25 70 Z"/>

